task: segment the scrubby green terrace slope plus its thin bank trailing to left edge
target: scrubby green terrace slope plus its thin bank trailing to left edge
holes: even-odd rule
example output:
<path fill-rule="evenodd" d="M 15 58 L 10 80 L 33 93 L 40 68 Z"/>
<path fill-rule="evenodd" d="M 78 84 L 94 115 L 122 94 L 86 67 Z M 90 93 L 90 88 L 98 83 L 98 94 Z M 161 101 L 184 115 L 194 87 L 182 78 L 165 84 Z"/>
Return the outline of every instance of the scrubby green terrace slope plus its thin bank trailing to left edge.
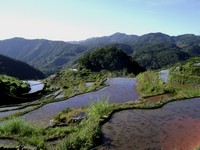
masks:
<path fill-rule="evenodd" d="M 45 98 L 43 96 L 43 98 L 41 98 L 39 101 L 27 102 L 26 104 L 23 104 L 13 110 L 21 110 L 29 106 L 33 106 L 33 108 L 26 110 L 24 112 L 15 113 L 13 115 L 0 118 L 0 121 L 21 116 L 30 111 L 38 109 L 48 103 L 66 100 L 68 98 L 72 98 L 80 94 L 99 90 L 105 86 L 105 81 L 107 80 L 107 77 L 111 77 L 113 76 L 113 74 L 114 73 L 110 73 L 107 71 L 102 71 L 101 73 L 97 73 L 97 72 L 90 72 L 88 70 L 81 70 L 81 71 L 64 70 L 60 73 L 57 73 L 55 76 L 47 78 L 44 81 L 45 82 L 44 91 L 46 93 L 55 89 L 57 90 L 61 89 L 62 93 L 64 93 L 64 97 L 55 99 L 55 95 L 52 95 L 49 98 Z M 92 85 L 86 86 L 87 82 L 92 82 Z M 3 110 L 1 112 L 5 111 L 10 111 L 10 110 Z"/>

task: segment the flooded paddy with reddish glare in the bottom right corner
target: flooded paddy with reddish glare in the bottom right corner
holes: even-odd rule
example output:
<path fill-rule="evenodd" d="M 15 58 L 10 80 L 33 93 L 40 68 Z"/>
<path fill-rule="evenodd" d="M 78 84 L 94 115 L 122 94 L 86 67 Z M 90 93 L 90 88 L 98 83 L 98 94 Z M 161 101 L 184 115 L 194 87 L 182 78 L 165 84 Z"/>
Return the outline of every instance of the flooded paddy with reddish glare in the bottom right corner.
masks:
<path fill-rule="evenodd" d="M 97 149 L 192 150 L 200 145 L 200 98 L 176 101 L 160 109 L 115 113 L 102 127 Z"/>

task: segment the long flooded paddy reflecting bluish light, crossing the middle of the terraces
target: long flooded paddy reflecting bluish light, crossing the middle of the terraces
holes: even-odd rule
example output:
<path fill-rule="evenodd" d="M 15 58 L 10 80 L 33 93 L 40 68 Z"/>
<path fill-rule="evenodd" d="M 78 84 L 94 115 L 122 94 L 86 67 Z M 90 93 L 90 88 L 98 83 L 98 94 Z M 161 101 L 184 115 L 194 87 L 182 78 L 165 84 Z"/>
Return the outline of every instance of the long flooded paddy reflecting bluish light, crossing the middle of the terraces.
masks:
<path fill-rule="evenodd" d="M 111 103 L 124 103 L 139 98 L 139 94 L 135 89 L 136 80 L 134 78 L 111 78 L 108 79 L 107 83 L 110 86 L 99 91 L 44 105 L 37 110 L 23 115 L 22 118 L 35 124 L 47 126 L 57 113 L 66 108 L 80 108 L 85 105 L 90 105 L 99 98 L 109 98 Z"/>

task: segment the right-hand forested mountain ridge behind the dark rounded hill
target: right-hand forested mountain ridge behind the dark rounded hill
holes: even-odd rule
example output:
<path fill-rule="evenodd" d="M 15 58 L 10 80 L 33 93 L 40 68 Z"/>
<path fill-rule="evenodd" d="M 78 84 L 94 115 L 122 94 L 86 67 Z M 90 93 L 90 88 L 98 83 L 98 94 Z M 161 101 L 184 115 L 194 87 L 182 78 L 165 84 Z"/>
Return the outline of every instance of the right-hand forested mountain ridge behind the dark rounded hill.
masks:
<path fill-rule="evenodd" d="M 136 36 L 115 33 L 80 41 L 78 44 L 87 47 L 116 45 L 149 69 L 159 69 L 200 55 L 200 37 L 191 34 L 169 36 L 158 32 Z"/>

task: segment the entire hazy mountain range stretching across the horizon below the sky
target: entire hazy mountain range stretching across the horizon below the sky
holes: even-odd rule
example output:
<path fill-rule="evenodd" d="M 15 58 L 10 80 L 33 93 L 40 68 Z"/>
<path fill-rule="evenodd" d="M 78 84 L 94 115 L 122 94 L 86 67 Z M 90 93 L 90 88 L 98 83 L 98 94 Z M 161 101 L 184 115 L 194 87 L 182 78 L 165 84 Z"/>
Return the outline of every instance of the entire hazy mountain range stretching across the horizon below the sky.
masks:
<path fill-rule="evenodd" d="M 123 50 L 149 69 L 200 56 L 200 36 L 169 36 L 163 33 L 142 36 L 115 33 L 75 42 L 13 38 L 0 41 L 0 54 L 24 61 L 48 75 L 74 66 L 79 56 L 108 45 Z"/>

